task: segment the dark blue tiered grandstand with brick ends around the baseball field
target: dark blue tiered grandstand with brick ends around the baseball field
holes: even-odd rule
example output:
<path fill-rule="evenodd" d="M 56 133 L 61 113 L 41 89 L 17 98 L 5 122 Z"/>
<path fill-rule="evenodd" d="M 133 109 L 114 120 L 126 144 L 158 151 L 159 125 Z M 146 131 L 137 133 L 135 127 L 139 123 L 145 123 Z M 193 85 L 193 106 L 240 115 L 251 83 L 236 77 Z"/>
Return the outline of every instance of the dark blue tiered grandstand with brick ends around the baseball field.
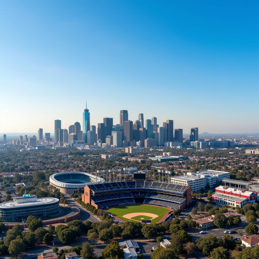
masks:
<path fill-rule="evenodd" d="M 82 201 L 97 209 L 124 204 L 150 204 L 170 209 L 183 209 L 192 202 L 191 187 L 165 182 L 132 180 L 125 182 L 89 183 Z"/>

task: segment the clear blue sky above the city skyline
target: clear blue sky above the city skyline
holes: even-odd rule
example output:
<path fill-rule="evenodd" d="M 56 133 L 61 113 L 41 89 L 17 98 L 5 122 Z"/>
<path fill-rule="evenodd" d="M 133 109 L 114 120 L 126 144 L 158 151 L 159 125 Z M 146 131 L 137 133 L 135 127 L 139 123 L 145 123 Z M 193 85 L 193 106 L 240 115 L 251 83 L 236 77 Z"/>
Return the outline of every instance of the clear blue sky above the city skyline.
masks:
<path fill-rule="evenodd" d="M 170 2 L 170 3 L 169 3 Z M 0 132 L 129 111 L 259 132 L 257 1 L 1 1 Z"/>

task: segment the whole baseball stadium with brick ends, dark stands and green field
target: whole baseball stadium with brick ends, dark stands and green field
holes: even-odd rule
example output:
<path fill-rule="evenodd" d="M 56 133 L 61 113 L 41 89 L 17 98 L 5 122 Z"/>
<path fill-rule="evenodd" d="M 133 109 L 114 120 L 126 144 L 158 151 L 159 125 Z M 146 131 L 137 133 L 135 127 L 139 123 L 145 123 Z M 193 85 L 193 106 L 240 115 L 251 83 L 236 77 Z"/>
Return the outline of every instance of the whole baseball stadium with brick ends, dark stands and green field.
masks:
<path fill-rule="evenodd" d="M 161 223 L 172 211 L 191 204 L 191 187 L 150 180 L 89 183 L 82 201 L 103 209 L 119 222 Z"/>

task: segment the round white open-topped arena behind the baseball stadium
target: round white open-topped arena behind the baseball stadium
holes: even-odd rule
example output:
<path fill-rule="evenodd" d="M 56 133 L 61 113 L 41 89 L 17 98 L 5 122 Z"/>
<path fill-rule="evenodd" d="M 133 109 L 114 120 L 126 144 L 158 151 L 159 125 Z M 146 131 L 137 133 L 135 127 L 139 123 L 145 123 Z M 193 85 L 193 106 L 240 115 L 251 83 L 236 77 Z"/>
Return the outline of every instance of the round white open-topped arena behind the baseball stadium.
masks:
<path fill-rule="evenodd" d="M 60 172 L 49 177 L 49 184 L 55 186 L 64 194 L 77 193 L 77 189 L 84 189 L 88 183 L 105 182 L 103 178 L 85 172 Z"/>

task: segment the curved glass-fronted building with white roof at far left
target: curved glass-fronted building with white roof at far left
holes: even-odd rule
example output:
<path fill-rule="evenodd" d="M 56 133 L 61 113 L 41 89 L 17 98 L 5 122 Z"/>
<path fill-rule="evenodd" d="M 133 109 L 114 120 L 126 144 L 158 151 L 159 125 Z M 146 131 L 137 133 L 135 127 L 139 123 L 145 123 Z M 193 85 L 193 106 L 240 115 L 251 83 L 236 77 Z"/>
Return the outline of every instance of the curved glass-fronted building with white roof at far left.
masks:
<path fill-rule="evenodd" d="M 38 198 L 36 195 L 24 194 L 14 197 L 11 202 L 0 203 L 0 218 L 2 221 L 17 221 L 33 215 L 39 218 L 59 213 L 59 199 Z"/>

